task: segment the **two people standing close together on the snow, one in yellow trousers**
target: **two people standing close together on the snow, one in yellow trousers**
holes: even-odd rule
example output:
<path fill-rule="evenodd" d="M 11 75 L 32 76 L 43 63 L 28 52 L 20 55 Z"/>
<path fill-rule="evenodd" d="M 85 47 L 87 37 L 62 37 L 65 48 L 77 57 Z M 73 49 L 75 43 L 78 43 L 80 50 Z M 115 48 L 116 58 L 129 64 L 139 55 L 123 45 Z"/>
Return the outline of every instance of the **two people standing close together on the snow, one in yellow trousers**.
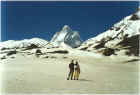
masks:
<path fill-rule="evenodd" d="M 76 63 L 74 64 L 74 60 L 71 61 L 71 63 L 69 64 L 69 69 L 70 72 L 68 74 L 68 78 L 67 80 L 69 80 L 69 78 L 71 78 L 71 80 L 74 77 L 74 80 L 78 80 L 79 79 L 79 74 L 80 74 L 80 66 L 78 64 L 78 62 L 76 61 Z"/>

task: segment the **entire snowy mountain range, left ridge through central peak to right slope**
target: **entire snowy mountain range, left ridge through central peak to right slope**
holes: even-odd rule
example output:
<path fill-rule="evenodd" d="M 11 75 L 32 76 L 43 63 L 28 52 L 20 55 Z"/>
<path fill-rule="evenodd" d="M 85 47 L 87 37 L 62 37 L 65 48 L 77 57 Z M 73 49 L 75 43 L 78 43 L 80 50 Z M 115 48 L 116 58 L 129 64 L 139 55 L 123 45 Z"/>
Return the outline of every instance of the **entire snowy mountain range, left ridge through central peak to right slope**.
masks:
<path fill-rule="evenodd" d="M 93 31 L 94 32 L 94 31 Z M 51 41 L 40 38 L 25 39 L 21 41 L 8 40 L 0 42 L 0 50 L 34 49 L 34 48 L 73 48 L 80 51 L 99 53 L 101 55 L 127 55 L 139 56 L 140 36 L 140 9 L 136 13 L 125 17 L 114 24 L 109 30 L 81 41 L 77 31 L 65 25 L 60 32 L 56 32 Z"/>

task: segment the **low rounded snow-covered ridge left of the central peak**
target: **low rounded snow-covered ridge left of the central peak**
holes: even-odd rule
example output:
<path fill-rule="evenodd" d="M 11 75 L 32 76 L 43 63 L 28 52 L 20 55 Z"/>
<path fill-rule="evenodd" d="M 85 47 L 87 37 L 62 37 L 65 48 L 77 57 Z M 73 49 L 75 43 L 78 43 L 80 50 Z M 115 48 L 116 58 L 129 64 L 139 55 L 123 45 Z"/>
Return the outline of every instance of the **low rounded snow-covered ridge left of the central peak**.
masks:
<path fill-rule="evenodd" d="M 34 44 L 38 47 L 44 47 L 48 44 L 48 41 L 40 38 L 24 39 L 21 41 L 8 40 L 0 43 L 0 49 L 26 48 L 31 44 Z"/>

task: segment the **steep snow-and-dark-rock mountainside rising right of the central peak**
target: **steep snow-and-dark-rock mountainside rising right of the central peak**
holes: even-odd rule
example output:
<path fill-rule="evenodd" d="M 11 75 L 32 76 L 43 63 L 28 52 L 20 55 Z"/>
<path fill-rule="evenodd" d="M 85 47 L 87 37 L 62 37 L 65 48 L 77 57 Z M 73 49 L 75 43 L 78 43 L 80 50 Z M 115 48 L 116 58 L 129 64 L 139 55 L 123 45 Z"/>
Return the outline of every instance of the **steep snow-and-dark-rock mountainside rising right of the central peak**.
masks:
<path fill-rule="evenodd" d="M 140 36 L 140 9 L 133 15 L 125 17 L 116 23 L 108 31 L 85 41 L 78 49 L 81 50 L 100 50 L 118 49 L 127 47 L 131 53 L 138 55 L 138 43 Z"/>

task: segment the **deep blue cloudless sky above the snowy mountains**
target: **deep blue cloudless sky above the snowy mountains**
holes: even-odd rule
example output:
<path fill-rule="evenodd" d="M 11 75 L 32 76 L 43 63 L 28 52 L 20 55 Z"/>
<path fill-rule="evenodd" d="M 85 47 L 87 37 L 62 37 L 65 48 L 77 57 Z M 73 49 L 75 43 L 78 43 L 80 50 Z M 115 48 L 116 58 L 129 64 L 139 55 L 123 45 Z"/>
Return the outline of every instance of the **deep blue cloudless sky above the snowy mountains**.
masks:
<path fill-rule="evenodd" d="M 51 40 L 64 25 L 83 41 L 135 13 L 138 1 L 2 1 L 2 41 L 34 37 Z"/>

